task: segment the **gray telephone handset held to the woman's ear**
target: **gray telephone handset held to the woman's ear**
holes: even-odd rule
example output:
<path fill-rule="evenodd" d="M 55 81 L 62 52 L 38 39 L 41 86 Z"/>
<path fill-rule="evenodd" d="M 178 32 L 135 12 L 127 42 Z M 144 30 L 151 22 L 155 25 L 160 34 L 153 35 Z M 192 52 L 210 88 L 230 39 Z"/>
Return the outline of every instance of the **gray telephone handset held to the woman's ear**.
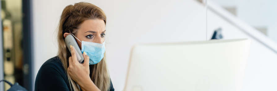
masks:
<path fill-rule="evenodd" d="M 83 53 L 81 52 L 75 38 L 70 34 L 65 37 L 64 41 L 65 41 L 66 47 L 68 48 L 70 53 L 71 53 L 70 45 L 72 45 L 72 47 L 75 48 L 77 60 L 79 61 L 79 63 L 82 63 L 84 61 L 84 56 L 83 56 Z"/>

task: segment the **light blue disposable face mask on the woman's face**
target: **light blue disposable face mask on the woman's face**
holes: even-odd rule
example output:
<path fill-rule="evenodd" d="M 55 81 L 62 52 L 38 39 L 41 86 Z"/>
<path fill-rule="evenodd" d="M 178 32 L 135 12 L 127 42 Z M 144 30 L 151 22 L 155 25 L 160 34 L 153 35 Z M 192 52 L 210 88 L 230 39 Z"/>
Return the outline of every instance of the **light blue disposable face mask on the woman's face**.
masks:
<path fill-rule="evenodd" d="M 76 38 L 76 39 L 79 40 L 78 38 Z M 87 55 L 89 56 L 89 65 L 97 64 L 103 59 L 104 53 L 105 53 L 105 50 L 106 50 L 105 49 L 105 42 L 102 43 L 102 44 L 101 43 L 87 42 L 87 41 L 80 41 L 80 42 L 82 42 L 81 52 L 82 53 L 86 52 Z"/>

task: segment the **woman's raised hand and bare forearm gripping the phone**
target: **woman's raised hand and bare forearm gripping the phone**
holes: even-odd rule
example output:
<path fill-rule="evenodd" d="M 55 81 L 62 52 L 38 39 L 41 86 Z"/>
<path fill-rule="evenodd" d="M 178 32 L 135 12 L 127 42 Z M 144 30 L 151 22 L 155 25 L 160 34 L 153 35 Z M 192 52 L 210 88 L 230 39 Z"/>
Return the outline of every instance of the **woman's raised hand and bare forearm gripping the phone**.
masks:
<path fill-rule="evenodd" d="M 67 68 L 67 72 L 71 79 L 76 81 L 84 91 L 99 91 L 97 86 L 94 85 L 89 77 L 89 56 L 87 56 L 86 52 L 84 52 L 84 63 L 81 64 L 77 60 L 75 48 L 70 45 L 70 49 L 71 56 L 68 60 L 69 66 Z"/>

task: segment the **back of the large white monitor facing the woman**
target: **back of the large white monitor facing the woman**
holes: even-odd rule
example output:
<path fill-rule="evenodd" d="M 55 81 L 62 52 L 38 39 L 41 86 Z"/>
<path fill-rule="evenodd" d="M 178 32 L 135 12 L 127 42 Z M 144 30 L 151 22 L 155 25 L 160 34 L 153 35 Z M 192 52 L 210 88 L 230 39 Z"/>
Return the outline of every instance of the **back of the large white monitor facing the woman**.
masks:
<path fill-rule="evenodd" d="M 125 91 L 240 91 L 248 39 L 141 44 L 131 52 Z"/>

